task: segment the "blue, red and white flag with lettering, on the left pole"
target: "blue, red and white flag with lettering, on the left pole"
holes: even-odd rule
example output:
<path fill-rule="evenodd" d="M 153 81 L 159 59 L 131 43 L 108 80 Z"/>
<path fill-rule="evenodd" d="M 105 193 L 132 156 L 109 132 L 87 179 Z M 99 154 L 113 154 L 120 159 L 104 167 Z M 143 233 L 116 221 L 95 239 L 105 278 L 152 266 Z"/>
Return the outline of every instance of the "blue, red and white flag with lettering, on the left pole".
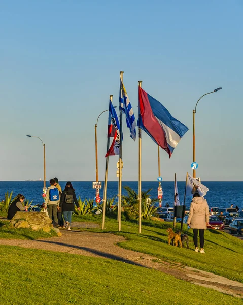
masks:
<path fill-rule="evenodd" d="M 109 116 L 108 116 L 108 138 L 114 138 L 112 144 L 107 151 L 107 156 L 119 155 L 120 153 L 120 125 L 118 121 L 118 117 L 116 114 L 116 110 L 110 100 L 109 104 Z"/>

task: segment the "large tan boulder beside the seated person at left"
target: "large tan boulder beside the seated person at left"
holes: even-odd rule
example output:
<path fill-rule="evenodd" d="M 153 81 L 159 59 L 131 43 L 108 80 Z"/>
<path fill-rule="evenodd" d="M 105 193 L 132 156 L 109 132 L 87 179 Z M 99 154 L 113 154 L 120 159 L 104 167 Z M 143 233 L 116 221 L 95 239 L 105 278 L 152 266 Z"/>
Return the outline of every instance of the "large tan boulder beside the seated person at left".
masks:
<path fill-rule="evenodd" d="M 51 231 L 52 220 L 42 212 L 17 212 L 10 225 L 15 228 L 31 228 L 34 231 Z"/>

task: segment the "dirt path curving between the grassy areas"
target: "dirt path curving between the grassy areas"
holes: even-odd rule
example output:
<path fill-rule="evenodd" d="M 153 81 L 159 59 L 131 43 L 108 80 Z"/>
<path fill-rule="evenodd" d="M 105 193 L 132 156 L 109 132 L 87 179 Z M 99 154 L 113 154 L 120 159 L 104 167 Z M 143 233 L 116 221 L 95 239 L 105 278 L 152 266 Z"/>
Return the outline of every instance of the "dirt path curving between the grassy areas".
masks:
<path fill-rule="evenodd" d="M 79 227 L 85 227 L 83 223 Z M 87 226 L 86 226 L 87 227 Z M 122 249 L 118 242 L 125 238 L 109 233 L 92 233 L 62 230 L 62 237 L 39 240 L 0 239 L 0 245 L 19 246 L 49 251 L 66 252 L 92 257 L 109 258 L 128 264 L 154 268 L 178 279 L 212 288 L 223 293 L 243 298 L 243 284 L 213 273 L 186 267 L 181 264 L 163 262 L 156 257 Z"/>

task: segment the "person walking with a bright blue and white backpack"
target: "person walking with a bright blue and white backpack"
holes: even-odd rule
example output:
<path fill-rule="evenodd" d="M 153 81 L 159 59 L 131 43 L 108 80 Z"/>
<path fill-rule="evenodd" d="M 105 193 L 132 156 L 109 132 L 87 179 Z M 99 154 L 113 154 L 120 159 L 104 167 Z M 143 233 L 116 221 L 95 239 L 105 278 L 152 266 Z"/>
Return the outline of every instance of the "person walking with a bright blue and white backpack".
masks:
<path fill-rule="evenodd" d="M 50 219 L 54 220 L 54 227 L 57 227 L 57 208 L 60 203 L 60 195 L 58 189 L 55 187 L 55 180 L 50 180 L 50 187 L 47 189 L 46 197 L 45 197 L 45 208 L 48 205 L 48 215 Z"/>

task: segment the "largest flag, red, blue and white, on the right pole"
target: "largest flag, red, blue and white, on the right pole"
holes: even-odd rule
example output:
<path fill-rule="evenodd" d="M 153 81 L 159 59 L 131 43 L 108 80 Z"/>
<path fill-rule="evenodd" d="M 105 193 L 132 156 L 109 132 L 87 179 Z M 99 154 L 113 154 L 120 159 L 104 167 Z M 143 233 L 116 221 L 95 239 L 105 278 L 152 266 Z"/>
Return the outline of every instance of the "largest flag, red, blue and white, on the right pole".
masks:
<path fill-rule="evenodd" d="M 162 149 L 169 158 L 177 144 L 188 131 L 179 120 L 172 117 L 169 111 L 145 90 L 138 87 L 140 118 L 137 125 L 142 128 Z"/>

